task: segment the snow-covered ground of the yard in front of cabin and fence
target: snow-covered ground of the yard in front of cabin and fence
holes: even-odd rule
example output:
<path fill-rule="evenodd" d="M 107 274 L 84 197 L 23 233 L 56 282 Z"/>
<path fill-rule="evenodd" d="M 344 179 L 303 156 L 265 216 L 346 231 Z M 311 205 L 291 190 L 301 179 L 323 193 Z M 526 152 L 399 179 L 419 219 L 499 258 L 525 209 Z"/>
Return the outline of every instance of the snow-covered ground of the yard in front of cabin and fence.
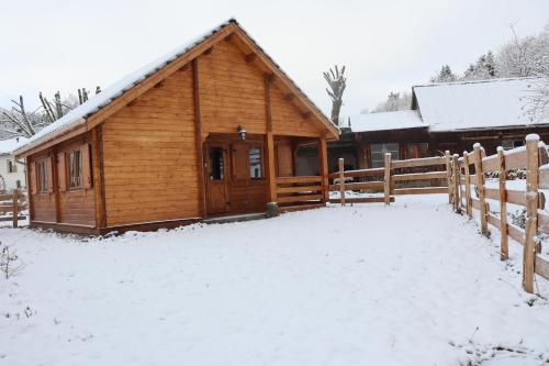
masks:
<path fill-rule="evenodd" d="M 0 365 L 540 365 L 520 288 L 446 195 L 77 239 L 0 229 Z"/>

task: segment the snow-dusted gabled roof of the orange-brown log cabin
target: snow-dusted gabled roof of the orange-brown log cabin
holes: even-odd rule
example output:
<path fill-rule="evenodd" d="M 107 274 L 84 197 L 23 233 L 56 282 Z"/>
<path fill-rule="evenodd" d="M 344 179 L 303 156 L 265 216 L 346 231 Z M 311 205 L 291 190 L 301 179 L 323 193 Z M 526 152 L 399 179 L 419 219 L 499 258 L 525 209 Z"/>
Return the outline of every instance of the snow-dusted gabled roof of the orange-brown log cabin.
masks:
<path fill-rule="evenodd" d="M 147 77 L 150 75 L 155 74 L 156 71 L 160 70 L 164 68 L 166 65 L 169 63 L 176 60 L 197 45 L 201 44 L 205 40 L 208 40 L 211 35 L 214 33 L 219 32 L 229 23 L 235 23 L 239 26 L 239 29 L 254 42 L 254 44 L 271 60 L 274 66 L 288 78 L 288 80 L 291 82 L 291 85 L 300 91 L 305 99 L 313 106 L 313 108 L 316 109 L 316 111 L 324 117 L 322 111 L 320 110 L 318 107 L 316 107 L 305 95 L 304 92 L 295 85 L 295 82 L 285 74 L 282 68 L 274 63 L 274 60 L 267 55 L 267 53 L 257 44 L 257 42 L 249 36 L 249 34 L 242 27 L 240 24 L 235 19 L 229 19 L 219 26 L 214 27 L 213 30 L 203 33 L 201 36 L 195 37 L 179 47 L 172 49 L 170 53 L 155 59 L 154 62 L 145 65 L 144 67 L 135 70 L 134 73 L 131 73 L 123 77 L 121 80 L 116 81 L 115 84 L 111 85 L 107 89 L 102 90 L 99 95 L 96 95 L 88 99 L 85 103 L 81 106 L 75 108 L 67 114 L 65 114 L 63 118 L 59 120 L 55 121 L 54 123 L 47 125 L 43 130 L 41 130 L 38 133 L 36 133 L 34 136 L 31 138 L 26 140 L 25 142 L 21 143 L 19 146 L 16 146 L 15 153 L 20 153 L 20 149 L 23 147 L 33 144 L 33 143 L 42 143 L 43 141 L 46 141 L 47 138 L 57 135 L 58 133 L 63 131 L 70 130 L 71 127 L 75 127 L 79 124 L 85 123 L 85 119 L 88 118 L 89 115 L 93 114 L 94 112 L 99 111 L 101 108 L 108 106 L 112 101 L 114 101 L 117 97 L 122 96 L 124 92 L 127 90 L 132 89 L 134 86 L 139 84 L 141 81 L 145 80 Z M 329 124 L 332 124 L 330 120 L 325 118 L 325 121 L 327 121 Z M 337 129 L 334 126 L 334 129 Z"/>

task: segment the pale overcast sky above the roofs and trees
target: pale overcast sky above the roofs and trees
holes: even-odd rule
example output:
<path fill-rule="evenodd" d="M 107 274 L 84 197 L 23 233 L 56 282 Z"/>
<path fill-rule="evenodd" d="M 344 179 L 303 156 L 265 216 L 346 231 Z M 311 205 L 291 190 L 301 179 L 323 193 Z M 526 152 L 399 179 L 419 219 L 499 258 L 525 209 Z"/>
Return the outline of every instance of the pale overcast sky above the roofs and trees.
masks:
<path fill-rule="evenodd" d="M 541 31 L 549 0 L 12 1 L 1 5 L 0 106 L 23 93 L 103 88 L 236 18 L 327 114 L 322 71 L 346 65 L 343 114 L 462 71 L 489 48 Z"/>

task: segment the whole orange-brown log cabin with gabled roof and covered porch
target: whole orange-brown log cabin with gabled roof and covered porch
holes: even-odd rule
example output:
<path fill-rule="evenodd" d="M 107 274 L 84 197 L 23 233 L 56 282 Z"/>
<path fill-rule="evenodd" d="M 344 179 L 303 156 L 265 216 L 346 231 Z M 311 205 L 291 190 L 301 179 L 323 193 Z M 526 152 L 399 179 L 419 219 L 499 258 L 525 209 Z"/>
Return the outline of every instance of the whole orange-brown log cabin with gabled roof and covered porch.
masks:
<path fill-rule="evenodd" d="M 126 76 L 15 154 L 30 225 L 79 234 L 314 208 L 339 130 L 236 22 Z M 318 151 L 316 176 L 295 152 Z M 276 204 L 274 204 L 276 203 Z"/>

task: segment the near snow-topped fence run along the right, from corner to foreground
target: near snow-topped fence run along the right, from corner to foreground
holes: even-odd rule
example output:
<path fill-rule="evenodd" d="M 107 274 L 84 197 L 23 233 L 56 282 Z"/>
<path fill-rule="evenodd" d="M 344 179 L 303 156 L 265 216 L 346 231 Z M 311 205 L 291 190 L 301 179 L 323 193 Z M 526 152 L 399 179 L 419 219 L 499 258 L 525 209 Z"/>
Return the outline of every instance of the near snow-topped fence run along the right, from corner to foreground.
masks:
<path fill-rule="evenodd" d="M 447 156 L 449 153 L 447 152 Z M 544 212 L 546 198 L 539 189 L 549 189 L 549 160 L 546 145 L 538 135 L 526 136 L 526 146 L 511 151 L 497 148 L 497 154 L 485 156 L 480 144 L 474 144 L 472 152 L 455 154 L 448 168 L 449 201 L 456 212 L 462 209 L 470 219 L 473 209 L 480 212 L 481 233 L 489 234 L 489 224 L 501 231 L 501 259 L 508 257 L 508 237 L 522 244 L 523 249 L 523 288 L 534 292 L 535 275 L 549 280 L 549 262 L 537 255 L 541 244 L 538 232 L 549 234 L 549 214 Z M 472 169 L 471 169 L 472 167 Z M 526 169 L 526 190 L 509 189 L 506 185 L 507 173 Z M 474 171 L 474 173 L 471 173 Z M 498 187 L 486 187 L 485 175 L 497 173 Z M 472 196 L 472 186 L 478 198 Z M 500 206 L 500 215 L 490 211 L 486 200 L 495 200 Z M 526 208 L 526 224 L 523 230 L 507 222 L 507 203 Z"/>

